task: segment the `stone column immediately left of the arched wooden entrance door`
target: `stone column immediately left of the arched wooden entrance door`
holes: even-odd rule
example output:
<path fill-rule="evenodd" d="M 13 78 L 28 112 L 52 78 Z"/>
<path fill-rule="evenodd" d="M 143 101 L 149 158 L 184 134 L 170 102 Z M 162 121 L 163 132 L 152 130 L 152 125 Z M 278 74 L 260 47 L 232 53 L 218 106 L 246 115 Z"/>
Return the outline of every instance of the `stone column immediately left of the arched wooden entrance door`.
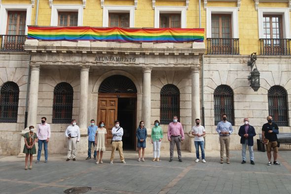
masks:
<path fill-rule="evenodd" d="M 87 134 L 88 117 L 88 82 L 90 66 L 81 66 L 80 73 L 80 101 L 79 101 L 79 128 L 81 134 Z"/>

